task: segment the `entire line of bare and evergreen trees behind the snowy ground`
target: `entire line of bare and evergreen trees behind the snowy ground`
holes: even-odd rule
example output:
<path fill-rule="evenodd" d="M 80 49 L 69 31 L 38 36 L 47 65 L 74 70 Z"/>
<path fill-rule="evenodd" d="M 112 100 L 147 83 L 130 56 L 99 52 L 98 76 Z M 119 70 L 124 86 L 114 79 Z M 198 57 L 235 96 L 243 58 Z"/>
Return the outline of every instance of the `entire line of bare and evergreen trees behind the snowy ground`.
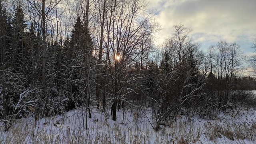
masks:
<path fill-rule="evenodd" d="M 116 120 L 122 108 L 152 107 L 155 130 L 255 103 L 245 56 L 225 40 L 202 51 L 176 24 L 162 46 L 143 0 L 0 0 L 0 122 L 36 120 L 83 106 Z M 253 58 L 252 58 L 253 59 Z M 252 64 L 254 63 L 251 61 Z M 86 125 L 87 126 L 87 125 Z"/>

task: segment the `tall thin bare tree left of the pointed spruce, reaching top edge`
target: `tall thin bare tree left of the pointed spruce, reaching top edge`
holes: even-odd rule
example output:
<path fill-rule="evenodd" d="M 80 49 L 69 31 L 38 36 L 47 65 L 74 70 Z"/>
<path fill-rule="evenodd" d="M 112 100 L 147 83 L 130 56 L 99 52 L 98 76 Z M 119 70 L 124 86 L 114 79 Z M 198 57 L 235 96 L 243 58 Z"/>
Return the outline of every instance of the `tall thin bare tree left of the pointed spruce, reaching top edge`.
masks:
<path fill-rule="evenodd" d="M 43 116 L 46 116 L 48 112 L 51 111 L 50 109 L 52 109 L 52 107 L 48 106 L 51 101 L 51 97 L 49 94 L 50 90 L 48 91 L 49 85 L 46 85 L 46 73 L 48 73 L 46 67 L 48 61 L 46 58 L 48 56 L 47 50 L 51 48 L 54 43 L 51 42 L 51 38 L 55 34 L 52 22 L 62 14 L 62 12 L 60 12 L 60 14 L 58 15 L 58 13 L 56 12 L 58 5 L 61 4 L 61 1 L 62 0 L 27 0 L 27 11 L 30 18 L 30 23 L 35 26 L 37 32 L 37 42 L 40 48 L 40 50 L 38 51 L 40 52 L 39 56 L 41 56 L 40 60 L 42 60 L 42 64 L 36 64 L 36 66 L 42 66 L 40 67 L 40 69 L 42 70 L 40 78 L 42 82 L 42 98 L 40 99 L 45 102 L 44 106 L 42 106 L 43 110 L 41 111 L 43 112 Z M 56 14 L 56 16 L 54 14 Z M 48 36 L 49 33 L 51 34 L 50 37 Z"/>

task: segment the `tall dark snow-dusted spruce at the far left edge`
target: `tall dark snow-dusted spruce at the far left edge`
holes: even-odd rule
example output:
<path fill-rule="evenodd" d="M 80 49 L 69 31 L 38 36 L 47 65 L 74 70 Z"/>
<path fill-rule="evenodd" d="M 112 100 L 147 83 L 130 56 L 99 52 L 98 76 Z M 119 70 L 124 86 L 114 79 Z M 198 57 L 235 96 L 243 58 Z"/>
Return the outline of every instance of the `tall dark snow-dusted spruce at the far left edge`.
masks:
<path fill-rule="evenodd" d="M 24 76 L 26 72 L 22 71 L 22 68 L 26 68 L 24 62 L 23 53 L 23 34 L 25 26 L 23 24 L 24 14 L 21 6 L 15 9 L 14 19 L 11 21 L 8 18 L 8 14 L 2 6 L 0 1 L 0 43 L 1 43 L 1 86 L 2 94 L 1 102 L 2 112 L 1 117 L 5 120 L 5 130 L 8 130 L 15 118 L 24 116 L 23 108 L 16 105 L 21 104 L 20 95 L 26 91 L 27 79 Z M 19 20 L 21 22 L 19 22 Z M 18 30 L 19 29 L 19 30 Z M 22 34 L 23 33 L 23 34 Z M 23 101 L 22 101 L 23 102 Z"/>

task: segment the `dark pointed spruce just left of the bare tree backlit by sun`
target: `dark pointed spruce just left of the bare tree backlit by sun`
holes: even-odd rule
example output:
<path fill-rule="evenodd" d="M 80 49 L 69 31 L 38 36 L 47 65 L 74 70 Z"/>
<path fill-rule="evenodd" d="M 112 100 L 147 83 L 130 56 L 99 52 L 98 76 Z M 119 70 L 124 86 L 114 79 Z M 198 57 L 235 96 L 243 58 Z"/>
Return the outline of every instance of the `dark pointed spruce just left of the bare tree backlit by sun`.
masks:
<path fill-rule="evenodd" d="M 92 39 L 90 38 L 89 30 L 82 23 L 78 16 L 74 24 L 74 30 L 70 38 L 70 42 L 66 40 L 67 58 L 69 59 L 68 66 L 70 67 L 69 75 L 69 92 L 68 92 L 68 109 L 72 109 L 85 102 L 85 97 L 78 96 L 78 93 L 84 90 L 86 84 L 82 84 L 78 80 L 88 80 L 88 70 L 92 57 Z M 87 88 L 82 92 L 87 94 Z"/>

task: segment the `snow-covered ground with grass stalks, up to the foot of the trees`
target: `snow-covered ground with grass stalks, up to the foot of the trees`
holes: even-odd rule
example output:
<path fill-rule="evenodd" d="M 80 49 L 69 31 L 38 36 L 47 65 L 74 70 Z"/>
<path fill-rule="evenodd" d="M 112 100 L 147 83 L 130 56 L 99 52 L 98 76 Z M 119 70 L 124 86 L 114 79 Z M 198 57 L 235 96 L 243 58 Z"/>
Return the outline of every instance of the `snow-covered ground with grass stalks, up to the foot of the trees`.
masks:
<path fill-rule="evenodd" d="M 220 114 L 218 120 L 193 117 L 190 124 L 184 124 L 186 118 L 180 115 L 169 126 L 161 125 L 158 132 L 151 126 L 154 123 L 151 121 L 150 108 L 143 112 L 120 110 L 117 116 L 117 120 L 113 121 L 111 116 L 94 109 L 92 119 L 88 118 L 87 130 L 82 108 L 38 121 L 33 117 L 23 118 L 17 120 L 8 132 L 3 132 L 1 126 L 0 144 L 256 143 L 256 111 L 253 109 L 236 111 L 226 116 Z"/>

